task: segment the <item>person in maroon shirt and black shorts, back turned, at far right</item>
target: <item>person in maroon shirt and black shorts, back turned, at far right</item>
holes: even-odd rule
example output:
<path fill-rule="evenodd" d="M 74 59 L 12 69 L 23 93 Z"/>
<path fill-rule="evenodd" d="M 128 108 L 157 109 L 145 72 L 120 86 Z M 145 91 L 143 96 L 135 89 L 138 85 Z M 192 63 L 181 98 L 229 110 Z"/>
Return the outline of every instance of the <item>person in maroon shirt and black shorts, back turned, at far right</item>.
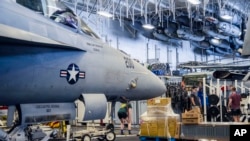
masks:
<path fill-rule="evenodd" d="M 231 110 L 234 122 L 239 122 L 241 115 L 241 110 L 240 110 L 241 96 L 236 92 L 235 87 L 232 87 L 231 90 L 232 92 L 231 95 L 229 96 L 229 101 L 228 101 L 228 111 Z"/>

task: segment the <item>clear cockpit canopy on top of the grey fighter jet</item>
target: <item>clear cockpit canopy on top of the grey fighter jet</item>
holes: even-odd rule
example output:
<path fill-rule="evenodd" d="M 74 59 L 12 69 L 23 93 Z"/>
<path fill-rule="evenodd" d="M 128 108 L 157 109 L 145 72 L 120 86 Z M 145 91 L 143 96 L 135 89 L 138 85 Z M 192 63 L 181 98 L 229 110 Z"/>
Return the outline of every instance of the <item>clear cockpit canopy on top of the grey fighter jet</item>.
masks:
<path fill-rule="evenodd" d="M 63 24 L 79 34 L 99 38 L 80 17 L 76 16 L 76 14 L 60 0 L 16 0 L 16 2 L 57 23 Z"/>

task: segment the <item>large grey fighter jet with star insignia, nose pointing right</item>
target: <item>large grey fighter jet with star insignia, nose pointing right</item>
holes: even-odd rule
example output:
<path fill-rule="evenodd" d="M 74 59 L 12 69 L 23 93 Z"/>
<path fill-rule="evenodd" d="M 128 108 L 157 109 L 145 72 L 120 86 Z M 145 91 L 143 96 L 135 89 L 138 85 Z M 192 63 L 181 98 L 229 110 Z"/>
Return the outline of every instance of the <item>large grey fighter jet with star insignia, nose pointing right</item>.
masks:
<path fill-rule="evenodd" d="M 57 0 L 3 0 L 0 5 L 0 105 L 19 124 L 103 119 L 107 102 L 146 100 L 164 83 L 127 54 L 102 42 Z"/>

